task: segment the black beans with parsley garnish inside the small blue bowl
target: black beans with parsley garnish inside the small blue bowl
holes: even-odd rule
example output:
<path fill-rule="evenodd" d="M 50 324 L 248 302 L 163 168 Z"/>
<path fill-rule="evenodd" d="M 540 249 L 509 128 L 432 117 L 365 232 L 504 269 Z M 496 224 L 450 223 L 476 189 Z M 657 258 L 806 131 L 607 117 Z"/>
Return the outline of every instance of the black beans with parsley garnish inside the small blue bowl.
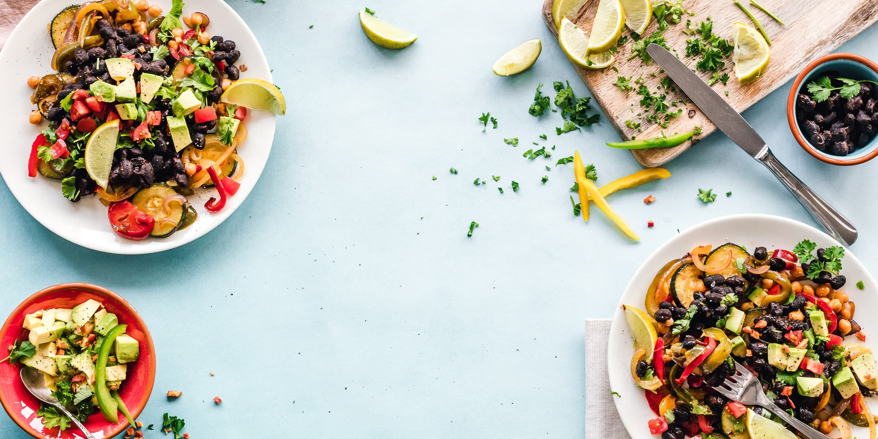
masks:
<path fill-rule="evenodd" d="M 799 90 L 796 119 L 810 144 L 831 155 L 849 155 L 878 133 L 878 90 L 871 81 L 827 72 Z"/>

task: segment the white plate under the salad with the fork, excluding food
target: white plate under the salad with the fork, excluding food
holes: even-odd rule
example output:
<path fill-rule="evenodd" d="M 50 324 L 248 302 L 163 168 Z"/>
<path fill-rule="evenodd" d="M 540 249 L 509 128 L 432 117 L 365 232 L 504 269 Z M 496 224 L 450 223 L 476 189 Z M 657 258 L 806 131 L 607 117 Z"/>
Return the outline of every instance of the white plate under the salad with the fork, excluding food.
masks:
<path fill-rule="evenodd" d="M 803 239 L 817 242 L 818 248 L 842 245 L 828 234 L 794 219 L 773 215 L 745 214 L 702 222 L 674 236 L 646 259 L 623 292 L 622 299 L 619 301 L 619 306 L 613 316 L 613 325 L 610 327 L 608 341 L 610 388 L 622 395 L 622 398 L 614 398 L 615 407 L 631 437 L 655 438 L 659 435 L 650 434 L 646 421 L 656 418 L 656 414 L 647 405 L 646 399 L 644 399 L 644 390 L 638 388 L 631 379 L 630 361 L 634 353 L 634 342 L 631 339 L 622 306 L 636 306 L 644 309 L 646 291 L 656 273 L 668 261 L 686 255 L 696 246 L 711 244 L 716 248 L 726 242 L 734 242 L 746 248 L 764 246 L 769 251 L 774 248 L 792 250 L 795 244 Z M 872 334 L 878 325 L 878 313 L 875 313 L 878 310 L 878 297 L 874 294 L 874 291 L 878 291 L 878 284 L 875 284 L 866 267 L 860 263 L 856 256 L 851 254 L 850 250 L 845 251 L 842 265 L 841 273 L 847 278 L 844 291 L 857 304 L 855 320 L 863 327 L 865 333 Z M 860 291 L 855 286 L 860 280 L 866 285 L 864 291 Z M 846 342 L 857 341 L 853 336 L 848 336 L 845 340 Z M 868 338 L 866 341 L 867 345 L 874 347 L 874 342 Z M 874 407 L 875 405 L 869 404 L 869 406 Z M 875 412 L 874 408 L 873 412 Z M 854 436 L 868 437 L 868 428 L 853 427 L 852 429 Z"/>

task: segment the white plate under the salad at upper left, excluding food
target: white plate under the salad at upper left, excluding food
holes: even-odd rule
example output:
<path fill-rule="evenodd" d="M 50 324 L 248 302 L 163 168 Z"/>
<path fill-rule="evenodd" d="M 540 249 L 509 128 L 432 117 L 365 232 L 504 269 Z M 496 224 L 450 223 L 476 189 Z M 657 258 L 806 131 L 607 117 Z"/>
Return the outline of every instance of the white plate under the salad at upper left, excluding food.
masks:
<path fill-rule="evenodd" d="M 274 139 L 275 116 L 269 112 L 248 112 L 244 124 L 248 137 L 238 148 L 238 155 L 244 160 L 244 176 L 240 180 L 241 189 L 228 198 L 226 207 L 219 213 L 205 210 L 208 198 L 217 197 L 216 191 L 198 190 L 189 197 L 198 209 L 198 220 L 183 230 L 167 238 L 147 238 L 131 241 L 115 234 L 107 219 L 107 208 L 97 197 L 89 196 L 78 203 L 70 203 L 61 196 L 61 183 L 39 174 L 35 178 L 27 176 L 27 159 L 33 139 L 46 129 L 47 121 L 40 126 L 27 122 L 27 117 L 36 105 L 31 104 L 32 90 L 27 86 L 30 76 L 53 73 L 50 67 L 54 48 L 49 39 L 47 23 L 69 6 L 70 0 L 43 0 L 25 15 L 21 23 L 12 31 L 9 40 L 0 51 L 0 84 L 4 85 L 4 104 L 0 105 L 0 175 L 9 186 L 12 195 L 31 216 L 49 230 L 62 238 L 83 247 L 108 253 L 124 255 L 154 253 L 181 246 L 210 232 L 213 227 L 228 218 L 247 198 L 256 180 L 263 172 L 265 162 Z M 77 2 L 78 3 L 78 2 Z M 170 10 L 170 0 L 151 1 L 159 4 L 163 11 Z M 221 0 L 186 0 L 184 15 L 191 12 L 205 12 L 211 19 L 207 32 L 234 40 L 241 51 L 237 65 L 247 66 L 241 77 L 262 78 L 271 82 L 268 61 L 253 32 L 241 17 Z M 172 60 L 173 61 L 173 60 Z"/>

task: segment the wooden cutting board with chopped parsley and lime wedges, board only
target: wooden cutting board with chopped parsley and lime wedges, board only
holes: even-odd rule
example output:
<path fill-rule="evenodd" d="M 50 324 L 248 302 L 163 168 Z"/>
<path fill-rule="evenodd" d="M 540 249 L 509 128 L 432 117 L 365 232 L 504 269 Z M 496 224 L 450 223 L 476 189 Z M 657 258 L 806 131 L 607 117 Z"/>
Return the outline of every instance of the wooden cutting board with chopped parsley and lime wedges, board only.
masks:
<path fill-rule="evenodd" d="M 553 0 L 545 0 L 543 4 L 543 21 L 549 26 L 551 32 L 558 38 L 558 27 L 551 17 L 551 6 Z M 589 0 L 573 19 L 573 23 L 579 25 L 580 28 L 591 30 L 594 12 L 597 10 L 599 0 Z M 805 65 L 822 54 L 829 53 L 832 49 L 844 44 L 847 40 L 853 38 L 857 33 L 862 32 L 869 25 L 878 21 L 878 1 L 876 0 L 840 0 L 831 2 L 822 2 L 818 0 L 759 0 L 759 4 L 765 6 L 769 11 L 774 12 L 781 18 L 786 25 L 780 25 L 774 19 L 768 17 L 764 12 L 759 11 L 755 6 L 749 4 L 747 0 L 741 0 L 742 4 L 759 19 L 759 23 L 765 28 L 768 37 L 771 39 L 771 61 L 769 61 L 768 69 L 764 76 L 753 83 L 740 84 L 735 78 L 731 57 L 725 58 L 725 72 L 730 76 L 728 85 L 723 83 L 715 83 L 713 85 L 720 96 L 725 95 L 728 90 L 726 101 L 738 112 L 743 112 L 752 104 L 756 104 L 762 97 L 771 93 L 782 84 L 787 83 L 789 79 L 797 75 Z M 727 40 L 731 40 L 731 25 L 736 21 L 740 21 L 747 25 L 752 25 L 752 21 L 747 18 L 744 11 L 741 11 L 731 0 L 684 0 L 683 7 L 688 11 L 692 11 L 693 16 L 683 14 L 683 20 L 679 25 L 670 25 L 663 36 L 666 39 L 668 47 L 676 49 L 675 54 L 687 63 L 690 68 L 695 68 L 698 61 L 697 58 L 686 57 L 686 40 L 694 38 L 694 35 L 683 33 L 686 29 L 686 20 L 691 19 L 692 24 L 707 19 L 710 16 L 713 19 L 713 32 Z M 654 18 L 654 17 L 653 17 Z M 657 24 L 653 19 L 649 28 L 644 32 L 644 36 L 651 34 L 656 30 Z M 755 26 L 754 26 L 755 27 Z M 623 35 L 630 35 L 630 31 L 626 28 Z M 644 84 L 650 90 L 655 91 L 659 87 L 661 78 L 664 74 L 659 72 L 659 66 L 655 61 L 651 61 L 650 65 L 644 66 L 639 58 L 628 61 L 631 54 L 631 43 L 629 39 L 623 47 L 619 47 L 619 51 L 615 54 L 615 68 L 619 69 L 616 73 L 612 68 L 603 70 L 587 70 L 579 68 L 575 64 L 579 77 L 586 83 L 588 90 L 591 91 L 594 99 L 601 105 L 603 111 L 607 114 L 610 122 L 615 129 L 622 135 L 624 140 L 631 140 L 632 136 L 637 139 L 649 139 L 659 137 L 661 132 L 664 133 L 684 133 L 691 131 L 693 126 L 702 127 L 702 135 L 697 139 L 687 141 L 686 143 L 674 148 L 651 148 L 651 149 L 634 149 L 631 152 L 646 167 L 660 166 L 671 161 L 677 155 L 691 148 L 698 140 L 706 137 L 716 130 L 716 126 L 710 123 L 702 112 L 698 111 L 698 107 L 694 104 L 686 104 L 682 115 L 674 118 L 670 126 L 662 128 L 658 124 L 651 122 L 643 122 L 640 126 L 641 132 L 625 126 L 625 121 L 632 119 L 640 112 L 638 103 L 640 97 L 633 91 L 628 96 L 618 87 L 613 85 L 616 76 L 625 76 L 636 79 L 638 76 L 644 77 Z M 651 76 L 654 73 L 655 76 Z M 711 76 L 709 72 L 698 72 L 702 79 L 707 80 Z M 668 92 L 667 100 L 679 100 L 685 98 L 679 90 Z M 686 99 L 689 102 L 688 99 Z M 682 106 L 682 105 L 681 105 Z M 678 107 L 672 107 L 672 110 Z M 633 112 L 631 110 L 634 110 Z M 690 110 L 692 110 L 690 112 Z"/>

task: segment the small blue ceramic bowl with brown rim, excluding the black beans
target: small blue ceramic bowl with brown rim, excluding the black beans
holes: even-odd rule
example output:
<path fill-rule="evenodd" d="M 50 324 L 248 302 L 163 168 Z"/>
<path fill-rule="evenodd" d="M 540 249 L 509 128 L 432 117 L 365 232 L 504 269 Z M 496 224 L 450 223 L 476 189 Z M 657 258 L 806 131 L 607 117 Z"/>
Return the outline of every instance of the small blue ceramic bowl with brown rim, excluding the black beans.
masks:
<path fill-rule="evenodd" d="M 799 76 L 796 76 L 792 89 L 789 90 L 787 100 L 787 119 L 789 121 L 789 129 L 793 132 L 795 140 L 799 142 L 802 149 L 808 154 L 817 157 L 823 162 L 834 165 L 849 166 L 860 164 L 872 160 L 878 155 L 878 136 L 874 136 L 872 140 L 862 148 L 857 148 L 852 154 L 846 156 L 831 155 L 814 148 L 808 138 L 799 128 L 799 121 L 795 116 L 795 97 L 805 84 L 816 81 L 820 76 L 825 76 L 829 72 L 836 72 L 838 76 L 864 80 L 869 79 L 878 83 L 878 65 L 874 62 L 855 54 L 827 54 L 812 61 L 802 70 Z"/>

